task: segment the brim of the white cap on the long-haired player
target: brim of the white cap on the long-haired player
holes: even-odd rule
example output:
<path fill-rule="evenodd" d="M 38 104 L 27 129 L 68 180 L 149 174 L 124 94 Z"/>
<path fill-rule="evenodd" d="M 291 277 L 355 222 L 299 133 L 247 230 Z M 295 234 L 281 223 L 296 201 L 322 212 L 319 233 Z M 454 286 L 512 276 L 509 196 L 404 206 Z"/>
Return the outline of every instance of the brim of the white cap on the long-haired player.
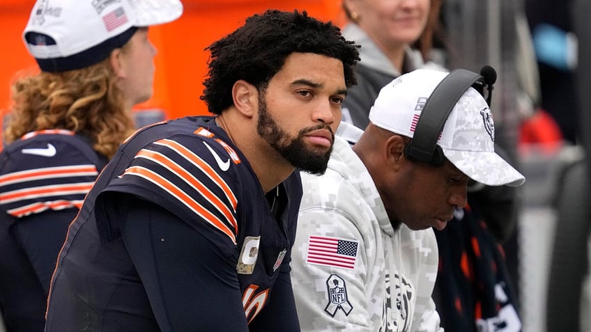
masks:
<path fill-rule="evenodd" d="M 179 0 L 130 0 L 135 10 L 135 26 L 152 26 L 174 21 L 183 14 Z"/>

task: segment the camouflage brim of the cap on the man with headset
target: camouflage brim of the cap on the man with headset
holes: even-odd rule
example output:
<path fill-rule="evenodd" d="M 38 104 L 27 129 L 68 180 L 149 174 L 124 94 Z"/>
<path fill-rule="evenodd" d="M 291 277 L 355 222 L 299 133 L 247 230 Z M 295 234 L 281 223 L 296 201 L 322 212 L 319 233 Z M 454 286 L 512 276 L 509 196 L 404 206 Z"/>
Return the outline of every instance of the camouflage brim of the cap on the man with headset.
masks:
<path fill-rule="evenodd" d="M 509 187 L 519 187 L 525 182 L 525 177 L 495 152 L 443 149 L 443 154 L 456 168 L 476 182 Z"/>

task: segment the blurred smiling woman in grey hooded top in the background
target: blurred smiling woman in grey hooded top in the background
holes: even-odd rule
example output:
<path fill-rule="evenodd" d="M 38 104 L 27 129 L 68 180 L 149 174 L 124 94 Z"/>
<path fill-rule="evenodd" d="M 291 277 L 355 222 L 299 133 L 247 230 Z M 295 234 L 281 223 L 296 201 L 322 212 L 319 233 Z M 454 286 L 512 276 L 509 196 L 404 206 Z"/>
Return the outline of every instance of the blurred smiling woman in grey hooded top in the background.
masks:
<path fill-rule="evenodd" d="M 364 129 L 380 89 L 401 74 L 442 67 L 429 60 L 441 0 L 344 0 L 346 38 L 361 45 L 355 72 L 358 85 L 348 90 L 343 121 Z"/>

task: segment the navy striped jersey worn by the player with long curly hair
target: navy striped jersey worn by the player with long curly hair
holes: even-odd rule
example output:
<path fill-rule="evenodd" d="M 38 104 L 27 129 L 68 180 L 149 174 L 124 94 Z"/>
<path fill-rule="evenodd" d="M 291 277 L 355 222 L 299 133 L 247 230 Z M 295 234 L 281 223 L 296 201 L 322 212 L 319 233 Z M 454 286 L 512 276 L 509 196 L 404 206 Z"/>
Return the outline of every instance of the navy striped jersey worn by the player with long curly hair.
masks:
<path fill-rule="evenodd" d="M 40 331 L 68 225 L 107 164 L 89 140 L 31 132 L 0 154 L 0 309 L 8 331 Z"/>

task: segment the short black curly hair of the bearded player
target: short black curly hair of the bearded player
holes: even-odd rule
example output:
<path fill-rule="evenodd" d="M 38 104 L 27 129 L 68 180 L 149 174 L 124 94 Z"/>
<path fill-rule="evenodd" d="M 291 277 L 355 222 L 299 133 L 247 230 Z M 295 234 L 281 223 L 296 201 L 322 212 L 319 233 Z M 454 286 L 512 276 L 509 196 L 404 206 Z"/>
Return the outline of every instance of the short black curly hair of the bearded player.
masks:
<path fill-rule="evenodd" d="M 332 22 L 321 22 L 298 13 L 267 10 L 206 48 L 211 52 L 204 95 L 211 113 L 220 114 L 233 104 L 233 84 L 244 79 L 264 91 L 293 52 L 314 53 L 339 59 L 345 84 L 357 84 L 353 68 L 359 58 L 358 45 L 346 40 Z"/>

